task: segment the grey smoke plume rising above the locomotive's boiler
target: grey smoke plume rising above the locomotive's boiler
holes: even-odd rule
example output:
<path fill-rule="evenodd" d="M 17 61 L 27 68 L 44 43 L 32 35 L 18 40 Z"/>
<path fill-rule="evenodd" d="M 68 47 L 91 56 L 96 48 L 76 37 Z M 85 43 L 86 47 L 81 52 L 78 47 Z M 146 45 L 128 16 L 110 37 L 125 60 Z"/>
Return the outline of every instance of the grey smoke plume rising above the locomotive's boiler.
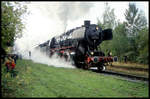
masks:
<path fill-rule="evenodd" d="M 57 13 L 60 20 L 62 21 L 62 24 L 64 25 L 64 31 L 66 31 L 68 21 L 77 20 L 80 17 L 85 16 L 92 6 L 93 5 L 91 3 L 85 2 L 75 2 L 73 4 L 72 2 L 62 3 L 58 8 L 59 10 Z"/>

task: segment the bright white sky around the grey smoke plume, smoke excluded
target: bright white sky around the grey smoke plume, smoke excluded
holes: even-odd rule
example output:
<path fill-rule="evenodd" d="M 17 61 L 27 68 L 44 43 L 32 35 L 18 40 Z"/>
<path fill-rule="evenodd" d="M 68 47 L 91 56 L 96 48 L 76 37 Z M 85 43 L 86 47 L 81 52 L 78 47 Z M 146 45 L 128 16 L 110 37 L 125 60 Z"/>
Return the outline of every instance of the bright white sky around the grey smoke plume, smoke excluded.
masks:
<path fill-rule="evenodd" d="M 57 15 L 60 2 L 31 2 L 28 8 L 31 14 L 26 17 L 26 29 L 23 37 L 16 41 L 18 48 L 21 51 L 31 50 L 36 45 L 45 42 L 55 35 L 60 35 L 64 32 L 63 24 Z M 73 4 L 74 2 L 71 2 Z M 97 18 L 102 20 L 104 11 L 104 2 L 90 2 L 94 4 L 86 14 L 77 14 L 79 17 L 76 20 L 68 20 L 67 30 L 79 27 L 84 24 L 84 20 L 90 20 L 92 24 L 97 23 Z M 125 9 L 128 9 L 129 2 L 108 2 L 111 8 L 115 9 L 115 15 L 121 22 L 125 20 Z M 135 3 L 135 2 L 134 2 Z M 136 2 L 137 7 L 145 12 L 148 19 L 148 2 Z M 45 7 L 47 6 L 47 8 Z M 72 11 L 71 13 L 75 13 Z M 76 14 L 76 13 L 75 13 Z"/>

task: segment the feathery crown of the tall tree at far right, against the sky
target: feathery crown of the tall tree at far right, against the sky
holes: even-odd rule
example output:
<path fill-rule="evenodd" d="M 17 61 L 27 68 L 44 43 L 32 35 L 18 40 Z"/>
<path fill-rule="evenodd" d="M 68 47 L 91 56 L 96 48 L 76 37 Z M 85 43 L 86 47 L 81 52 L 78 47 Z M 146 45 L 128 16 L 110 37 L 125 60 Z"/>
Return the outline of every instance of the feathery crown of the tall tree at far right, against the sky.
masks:
<path fill-rule="evenodd" d="M 143 11 L 138 10 L 134 3 L 129 3 L 129 9 L 125 12 L 126 29 L 128 36 L 135 37 L 141 29 L 147 25 Z"/>

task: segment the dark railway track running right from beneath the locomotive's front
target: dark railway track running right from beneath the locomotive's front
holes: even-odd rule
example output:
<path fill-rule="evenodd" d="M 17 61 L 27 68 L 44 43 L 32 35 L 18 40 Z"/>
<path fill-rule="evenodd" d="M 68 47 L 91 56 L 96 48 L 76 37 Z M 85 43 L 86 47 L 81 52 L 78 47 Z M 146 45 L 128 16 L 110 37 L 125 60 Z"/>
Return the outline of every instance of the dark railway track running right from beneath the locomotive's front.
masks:
<path fill-rule="evenodd" d="M 143 77 L 143 76 L 129 75 L 129 74 L 118 73 L 118 72 L 113 72 L 113 71 L 108 71 L 108 70 L 102 71 L 102 72 L 99 72 L 97 69 L 91 69 L 91 70 L 96 73 L 120 76 L 120 77 L 127 78 L 130 80 L 140 80 L 140 81 L 145 81 L 145 82 L 149 81 L 149 78 Z"/>

